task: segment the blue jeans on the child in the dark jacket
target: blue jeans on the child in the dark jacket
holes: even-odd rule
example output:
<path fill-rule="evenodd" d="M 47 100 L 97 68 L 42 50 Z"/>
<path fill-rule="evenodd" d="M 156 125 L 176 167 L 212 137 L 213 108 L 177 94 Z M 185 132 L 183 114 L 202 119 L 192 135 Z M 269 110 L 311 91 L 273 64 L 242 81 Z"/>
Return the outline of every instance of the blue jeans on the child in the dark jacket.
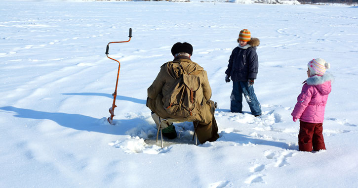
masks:
<path fill-rule="evenodd" d="M 252 115 L 261 115 L 261 105 L 256 98 L 254 87 L 248 86 L 247 82 L 233 82 L 233 92 L 230 96 L 231 112 L 242 113 L 242 94 L 245 96 Z"/>

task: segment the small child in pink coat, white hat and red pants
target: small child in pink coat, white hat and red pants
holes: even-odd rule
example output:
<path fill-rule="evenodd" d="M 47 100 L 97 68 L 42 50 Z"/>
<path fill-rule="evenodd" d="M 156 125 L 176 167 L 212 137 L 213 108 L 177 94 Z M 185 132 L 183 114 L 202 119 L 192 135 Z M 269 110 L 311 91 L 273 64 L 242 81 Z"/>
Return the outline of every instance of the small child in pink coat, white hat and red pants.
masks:
<path fill-rule="evenodd" d="M 324 107 L 331 92 L 333 76 L 325 73 L 329 63 L 323 59 L 313 59 L 308 63 L 308 79 L 303 83 L 301 94 L 291 115 L 293 121 L 300 119 L 298 147 L 300 151 L 326 149 L 322 135 Z"/>

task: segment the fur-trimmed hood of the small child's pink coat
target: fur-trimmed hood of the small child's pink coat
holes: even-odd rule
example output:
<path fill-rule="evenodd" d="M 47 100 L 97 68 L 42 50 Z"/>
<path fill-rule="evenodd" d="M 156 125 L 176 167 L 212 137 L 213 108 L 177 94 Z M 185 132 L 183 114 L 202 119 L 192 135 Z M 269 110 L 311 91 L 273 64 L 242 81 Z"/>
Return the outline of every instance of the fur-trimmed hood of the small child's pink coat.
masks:
<path fill-rule="evenodd" d="M 321 94 L 329 94 L 331 92 L 331 82 L 333 80 L 333 75 L 326 73 L 323 76 L 311 76 L 305 83 L 310 86 L 315 86 Z"/>

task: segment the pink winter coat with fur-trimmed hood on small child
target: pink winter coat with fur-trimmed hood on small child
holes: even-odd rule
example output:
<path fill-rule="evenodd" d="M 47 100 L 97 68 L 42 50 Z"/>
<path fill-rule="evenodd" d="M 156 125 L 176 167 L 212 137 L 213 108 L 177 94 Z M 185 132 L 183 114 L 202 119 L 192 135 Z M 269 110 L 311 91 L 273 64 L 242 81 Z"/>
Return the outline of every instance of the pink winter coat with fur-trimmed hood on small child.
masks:
<path fill-rule="evenodd" d="M 323 123 L 324 107 L 332 89 L 331 81 L 333 81 L 333 76 L 329 73 L 308 78 L 304 82 L 301 94 L 297 97 L 297 103 L 291 115 L 304 122 Z"/>

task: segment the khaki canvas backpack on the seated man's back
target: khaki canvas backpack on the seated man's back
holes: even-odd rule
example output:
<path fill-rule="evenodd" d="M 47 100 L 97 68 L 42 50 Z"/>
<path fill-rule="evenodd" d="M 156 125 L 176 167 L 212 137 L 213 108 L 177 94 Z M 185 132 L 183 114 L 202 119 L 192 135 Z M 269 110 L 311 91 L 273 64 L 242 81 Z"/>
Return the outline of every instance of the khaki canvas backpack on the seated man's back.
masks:
<path fill-rule="evenodd" d="M 180 118 L 196 116 L 204 102 L 199 76 L 186 72 L 180 63 L 167 63 L 169 75 L 176 80 L 163 96 L 163 108 L 167 113 Z"/>

